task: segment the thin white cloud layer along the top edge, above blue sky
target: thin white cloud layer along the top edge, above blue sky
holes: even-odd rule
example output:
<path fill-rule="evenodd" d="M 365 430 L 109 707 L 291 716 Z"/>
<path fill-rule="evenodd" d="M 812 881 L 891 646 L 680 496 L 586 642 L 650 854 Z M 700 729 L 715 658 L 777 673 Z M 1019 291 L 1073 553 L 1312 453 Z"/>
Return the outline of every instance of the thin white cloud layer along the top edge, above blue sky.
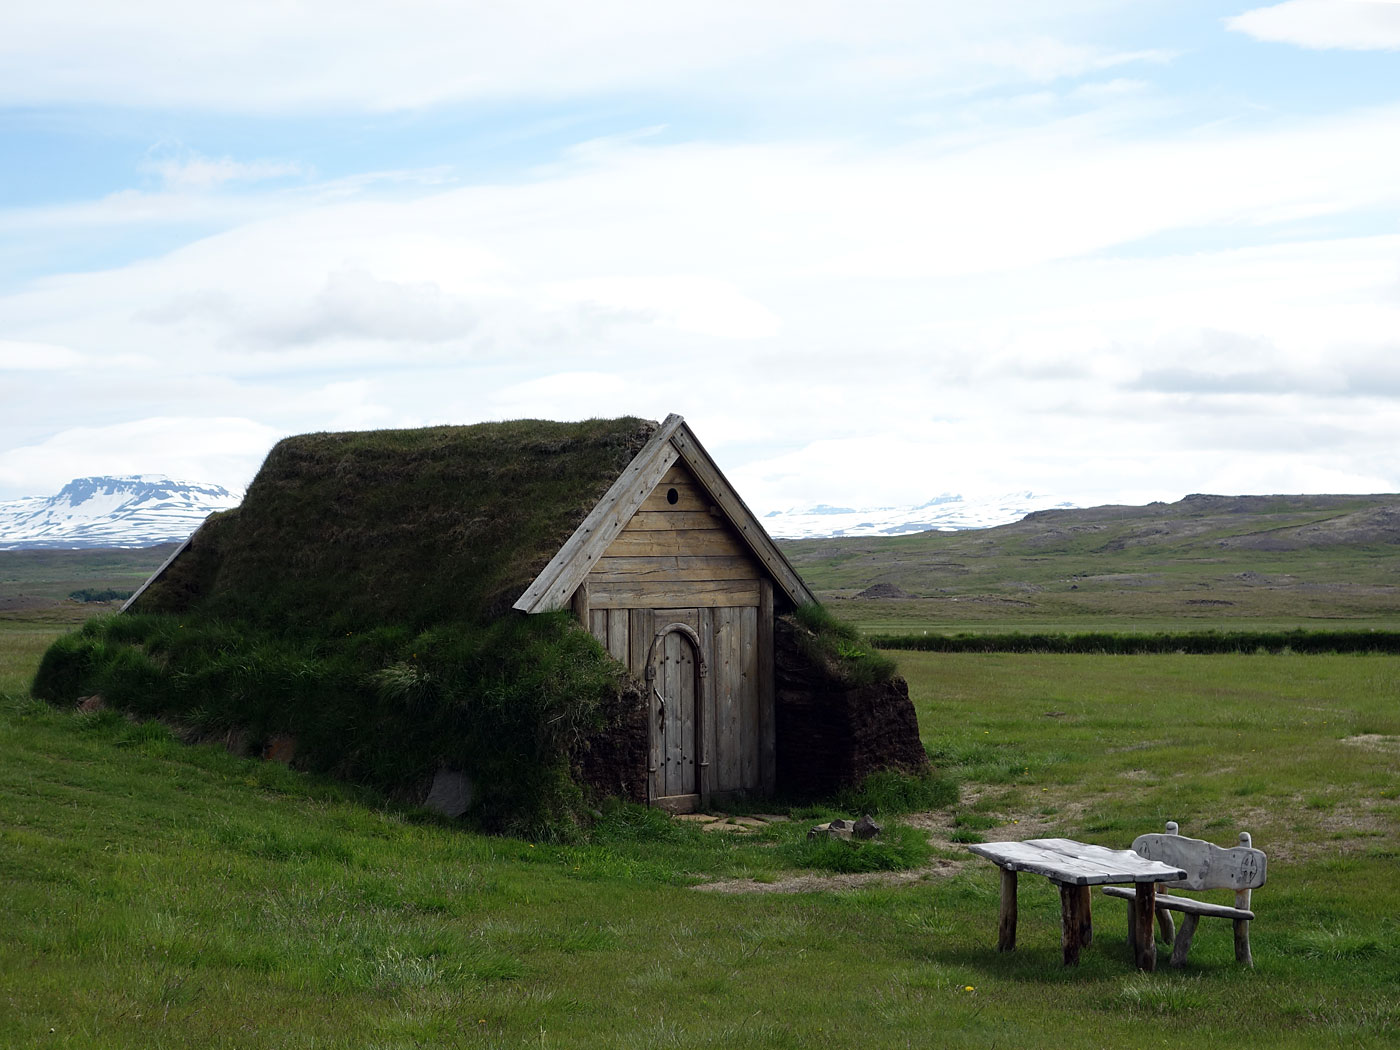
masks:
<path fill-rule="evenodd" d="M 1060 39 L 1067 22 L 1123 6 L 246 0 L 195 8 L 50 0 L 7 13 L 0 102 L 392 111 L 664 87 L 745 99 L 756 88 L 959 87 L 973 71 L 1047 80 L 1140 60 Z"/>

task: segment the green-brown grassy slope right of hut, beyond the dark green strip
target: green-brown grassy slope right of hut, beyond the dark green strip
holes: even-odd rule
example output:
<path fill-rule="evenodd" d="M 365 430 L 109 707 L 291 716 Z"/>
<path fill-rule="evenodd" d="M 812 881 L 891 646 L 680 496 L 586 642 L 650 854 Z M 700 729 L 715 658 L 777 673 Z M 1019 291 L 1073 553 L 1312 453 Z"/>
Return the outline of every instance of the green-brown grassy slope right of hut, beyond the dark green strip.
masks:
<path fill-rule="evenodd" d="M 790 540 L 843 616 L 881 630 L 1393 624 L 1400 497 L 1208 497 L 900 538 Z M 872 584 L 916 595 L 840 601 Z"/>

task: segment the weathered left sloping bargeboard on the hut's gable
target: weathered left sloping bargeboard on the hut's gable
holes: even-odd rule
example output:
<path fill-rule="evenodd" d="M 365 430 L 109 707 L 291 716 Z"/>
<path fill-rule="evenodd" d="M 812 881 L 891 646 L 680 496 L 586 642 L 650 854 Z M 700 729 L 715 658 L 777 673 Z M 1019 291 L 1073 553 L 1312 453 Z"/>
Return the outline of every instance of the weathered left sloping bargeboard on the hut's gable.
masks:
<path fill-rule="evenodd" d="M 603 556 L 623 526 L 637 512 L 651 490 L 679 458 L 672 435 L 685 426 L 676 413 L 666 416 L 641 451 L 617 475 L 603 497 L 578 524 L 573 535 L 515 599 L 512 608 L 526 613 L 553 612 L 568 605 L 584 577 Z"/>

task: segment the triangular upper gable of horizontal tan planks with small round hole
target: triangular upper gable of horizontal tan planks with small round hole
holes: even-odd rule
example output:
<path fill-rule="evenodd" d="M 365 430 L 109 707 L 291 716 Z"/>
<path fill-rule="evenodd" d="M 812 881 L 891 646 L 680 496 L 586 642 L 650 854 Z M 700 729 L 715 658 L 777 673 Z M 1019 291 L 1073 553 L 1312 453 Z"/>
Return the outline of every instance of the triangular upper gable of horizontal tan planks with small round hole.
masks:
<path fill-rule="evenodd" d="M 662 476 L 588 574 L 591 609 L 757 606 L 759 560 L 690 469 Z"/>

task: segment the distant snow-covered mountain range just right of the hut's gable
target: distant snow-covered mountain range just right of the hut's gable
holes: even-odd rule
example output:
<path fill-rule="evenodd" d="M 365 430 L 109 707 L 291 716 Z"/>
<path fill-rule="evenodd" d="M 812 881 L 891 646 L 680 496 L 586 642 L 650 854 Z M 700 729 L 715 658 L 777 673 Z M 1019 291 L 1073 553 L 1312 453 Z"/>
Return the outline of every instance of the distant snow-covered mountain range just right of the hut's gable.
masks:
<path fill-rule="evenodd" d="M 935 496 L 917 507 L 829 507 L 773 511 L 763 517 L 763 528 L 783 539 L 818 536 L 900 536 L 906 532 L 952 532 L 988 529 L 1021 521 L 1032 511 L 1046 511 L 1077 504 L 1036 493 L 1009 493 L 984 498 Z"/>

